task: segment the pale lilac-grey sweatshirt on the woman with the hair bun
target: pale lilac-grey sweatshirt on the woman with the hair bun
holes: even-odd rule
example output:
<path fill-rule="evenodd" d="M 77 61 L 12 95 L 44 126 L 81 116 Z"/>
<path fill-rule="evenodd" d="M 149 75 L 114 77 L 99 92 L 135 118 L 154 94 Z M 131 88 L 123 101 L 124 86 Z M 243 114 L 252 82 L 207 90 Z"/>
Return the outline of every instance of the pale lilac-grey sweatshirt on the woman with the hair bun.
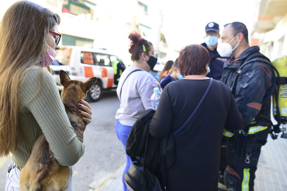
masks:
<path fill-rule="evenodd" d="M 127 75 L 133 70 L 141 70 Z M 127 78 L 125 83 L 124 80 Z M 123 88 L 122 88 L 123 85 Z M 116 119 L 122 125 L 133 126 L 136 119 L 146 110 L 152 109 L 150 97 L 155 87 L 160 88 L 158 81 L 147 71 L 137 66 L 129 66 L 119 80 L 117 95 L 121 101 Z M 122 88 L 122 94 L 120 96 Z"/>

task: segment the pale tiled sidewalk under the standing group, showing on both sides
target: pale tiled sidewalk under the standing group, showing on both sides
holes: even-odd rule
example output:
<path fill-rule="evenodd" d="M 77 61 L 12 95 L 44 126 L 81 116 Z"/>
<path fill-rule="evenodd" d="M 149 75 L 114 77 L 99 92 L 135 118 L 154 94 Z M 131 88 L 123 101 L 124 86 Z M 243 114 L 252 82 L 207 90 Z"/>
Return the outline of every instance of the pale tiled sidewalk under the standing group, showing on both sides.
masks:
<path fill-rule="evenodd" d="M 96 190 L 89 191 L 122 191 L 121 166 L 114 175 L 107 178 Z M 267 143 L 261 149 L 255 178 L 254 191 L 287 190 L 287 139 L 278 137 L 272 140 L 268 135 Z"/>

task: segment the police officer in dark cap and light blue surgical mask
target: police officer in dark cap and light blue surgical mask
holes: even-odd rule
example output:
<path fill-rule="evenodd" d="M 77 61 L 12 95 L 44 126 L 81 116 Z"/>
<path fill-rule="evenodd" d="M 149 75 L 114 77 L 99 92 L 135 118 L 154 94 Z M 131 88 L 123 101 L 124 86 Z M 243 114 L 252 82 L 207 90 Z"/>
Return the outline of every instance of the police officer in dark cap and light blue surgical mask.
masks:
<path fill-rule="evenodd" d="M 210 72 L 206 75 L 216 80 L 220 80 L 223 70 L 223 63 L 229 59 L 229 56 L 222 57 L 216 51 L 217 41 L 220 38 L 219 25 L 215 22 L 210 22 L 205 26 L 205 42 L 201 45 L 204 46 L 210 57 Z"/>

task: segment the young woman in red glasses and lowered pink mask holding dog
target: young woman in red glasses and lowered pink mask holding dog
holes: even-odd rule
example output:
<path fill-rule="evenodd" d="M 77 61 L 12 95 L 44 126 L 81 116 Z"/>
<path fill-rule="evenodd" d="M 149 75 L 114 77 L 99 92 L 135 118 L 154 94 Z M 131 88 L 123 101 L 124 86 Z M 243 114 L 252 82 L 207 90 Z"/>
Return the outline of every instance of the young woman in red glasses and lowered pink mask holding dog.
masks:
<path fill-rule="evenodd" d="M 51 73 L 44 69 L 60 49 L 59 23 L 59 15 L 30 1 L 14 3 L 1 22 L 0 156 L 13 155 L 5 190 L 19 190 L 21 169 L 42 133 L 59 164 L 71 167 L 66 190 L 73 190 L 73 165 L 85 147 L 73 131 Z M 90 123 L 90 106 L 83 100 L 79 104 L 83 120 Z"/>

